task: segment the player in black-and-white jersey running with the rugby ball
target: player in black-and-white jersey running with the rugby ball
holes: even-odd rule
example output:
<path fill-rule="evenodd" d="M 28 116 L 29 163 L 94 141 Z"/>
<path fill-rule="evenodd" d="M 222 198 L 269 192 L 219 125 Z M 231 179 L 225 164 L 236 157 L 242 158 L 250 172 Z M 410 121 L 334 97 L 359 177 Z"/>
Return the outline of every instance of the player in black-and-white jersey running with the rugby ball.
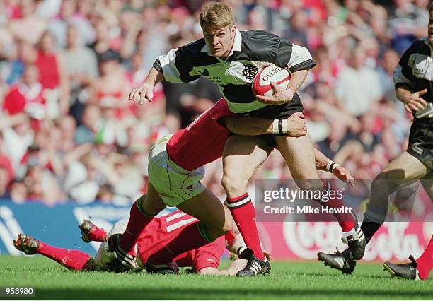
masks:
<path fill-rule="evenodd" d="M 200 25 L 204 38 L 158 57 L 146 81 L 130 93 L 129 99 L 151 101 L 154 86 L 162 80 L 186 83 L 204 76 L 219 85 L 233 113 L 275 119 L 280 129 L 285 129 L 287 118 L 303 109 L 296 90 L 304 82 L 308 69 L 316 65 L 308 50 L 263 30 L 240 32 L 234 24 L 233 11 L 222 3 L 204 6 L 200 13 Z M 275 90 L 272 97 L 258 95 L 256 98 L 251 83 L 263 66 L 270 65 L 285 68 L 291 73 L 289 86 L 280 88 L 272 83 Z M 278 134 L 278 129 L 276 126 L 274 134 Z M 330 189 L 329 184 L 321 182 L 318 177 L 315 151 L 308 134 L 268 138 L 282 153 L 301 189 Z M 229 138 L 224 152 L 223 185 L 228 195 L 227 203 L 246 245 L 255 253 L 246 270 L 238 276 L 255 276 L 270 269 L 260 247 L 253 203 L 246 193 L 246 183 L 267 157 L 266 151 L 251 152 L 260 148 L 257 141 L 252 140 L 240 136 Z M 332 164 L 329 161 L 325 163 Z M 341 200 L 327 204 L 337 208 L 343 205 Z M 342 226 L 342 238 L 348 242 L 352 253 L 361 258 L 365 241 L 356 217 L 336 217 Z"/>

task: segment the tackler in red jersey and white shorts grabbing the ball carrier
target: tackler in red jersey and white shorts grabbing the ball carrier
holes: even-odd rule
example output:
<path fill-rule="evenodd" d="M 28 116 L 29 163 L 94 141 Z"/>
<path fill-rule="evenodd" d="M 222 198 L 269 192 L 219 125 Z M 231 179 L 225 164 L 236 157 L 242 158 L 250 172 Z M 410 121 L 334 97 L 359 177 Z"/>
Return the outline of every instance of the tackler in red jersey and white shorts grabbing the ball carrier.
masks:
<path fill-rule="evenodd" d="M 208 244 L 232 228 L 230 211 L 200 183 L 204 177 L 203 165 L 221 157 L 230 131 L 244 135 L 272 133 L 274 122 L 271 119 L 235 116 L 230 112 L 226 100 L 221 99 L 190 126 L 173 136 L 161 138 L 151 149 L 147 196 L 132 205 L 127 229 L 122 236 L 112 235 L 110 240 L 120 264 L 129 265 L 129 261 L 134 259 L 129 253 L 139 234 L 166 206 L 176 206 L 200 220 L 200 223 L 189 225 L 166 247 L 152 254 L 151 261 L 155 264 L 169 256 L 175 258 L 178 254 Z M 299 112 L 287 119 L 287 134 L 301 136 L 306 133 L 301 116 Z M 252 120 L 255 122 L 250 122 Z M 260 139 L 251 138 L 255 143 Z M 329 159 L 316 152 L 318 167 L 325 169 Z M 353 180 L 343 167 L 335 168 L 333 172 L 345 182 Z"/>

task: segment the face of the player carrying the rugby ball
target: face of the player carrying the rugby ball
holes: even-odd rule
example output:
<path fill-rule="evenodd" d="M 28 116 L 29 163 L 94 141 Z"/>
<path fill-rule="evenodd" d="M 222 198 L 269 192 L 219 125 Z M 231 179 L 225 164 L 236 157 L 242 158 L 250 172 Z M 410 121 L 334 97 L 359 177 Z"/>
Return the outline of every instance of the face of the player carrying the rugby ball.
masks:
<path fill-rule="evenodd" d="M 226 59 L 226 57 L 229 57 L 231 47 L 233 47 L 235 34 L 235 25 L 229 25 L 219 30 L 212 30 L 209 28 L 203 30 L 204 41 L 206 41 L 209 52 L 214 57 L 219 57 L 220 59 Z"/>

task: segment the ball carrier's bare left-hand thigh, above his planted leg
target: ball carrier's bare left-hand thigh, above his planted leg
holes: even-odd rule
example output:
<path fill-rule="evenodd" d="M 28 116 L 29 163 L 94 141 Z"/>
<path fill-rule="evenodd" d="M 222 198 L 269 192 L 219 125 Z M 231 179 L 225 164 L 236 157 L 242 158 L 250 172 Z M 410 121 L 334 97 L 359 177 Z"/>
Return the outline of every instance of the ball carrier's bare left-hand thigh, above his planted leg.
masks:
<path fill-rule="evenodd" d="M 272 148 L 260 136 L 230 136 L 223 153 L 224 178 L 247 183 Z"/>

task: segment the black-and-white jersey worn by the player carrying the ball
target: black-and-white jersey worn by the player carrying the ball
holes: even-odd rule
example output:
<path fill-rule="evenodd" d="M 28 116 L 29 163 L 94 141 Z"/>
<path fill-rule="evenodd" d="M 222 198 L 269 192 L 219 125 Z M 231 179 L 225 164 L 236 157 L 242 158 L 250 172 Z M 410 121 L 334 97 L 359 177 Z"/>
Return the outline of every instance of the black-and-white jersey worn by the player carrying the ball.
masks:
<path fill-rule="evenodd" d="M 231 112 L 246 113 L 267 106 L 256 100 L 251 83 L 269 64 L 291 73 L 316 66 L 305 47 L 264 30 L 236 30 L 233 49 L 225 60 L 209 54 L 204 39 L 200 39 L 158 57 L 154 67 L 171 82 L 187 83 L 204 76 L 219 85 Z"/>

